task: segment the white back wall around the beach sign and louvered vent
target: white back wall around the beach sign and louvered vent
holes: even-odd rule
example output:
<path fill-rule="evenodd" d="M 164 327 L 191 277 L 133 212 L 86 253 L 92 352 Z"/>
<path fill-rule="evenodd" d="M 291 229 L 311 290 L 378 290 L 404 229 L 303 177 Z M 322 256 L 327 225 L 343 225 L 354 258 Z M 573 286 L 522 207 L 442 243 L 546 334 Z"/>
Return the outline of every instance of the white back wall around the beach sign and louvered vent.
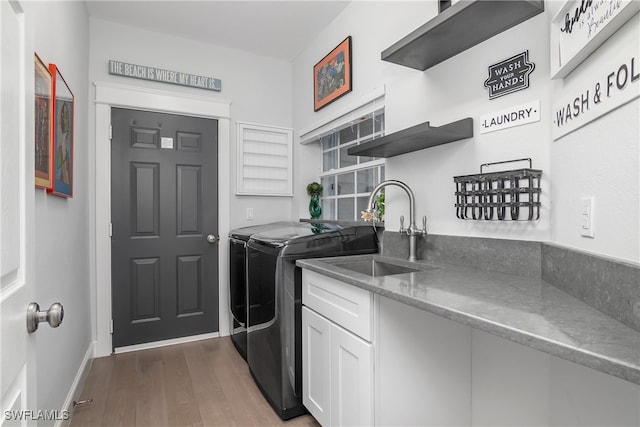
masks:
<path fill-rule="evenodd" d="M 220 182 L 220 185 L 230 186 L 232 194 L 236 183 L 236 122 L 282 127 L 292 125 L 291 65 L 287 61 L 93 18 L 90 19 L 90 32 L 90 82 L 113 82 L 232 102 L 232 155 L 229 159 L 219 159 L 231 164 L 229 180 Z M 222 91 L 112 76 L 108 73 L 110 59 L 215 77 L 222 80 Z M 92 88 L 90 91 L 93 93 Z M 286 197 L 232 196 L 230 203 L 230 206 L 225 206 L 221 201 L 220 209 L 229 209 L 232 228 L 289 219 L 291 215 L 291 198 Z M 253 221 L 246 220 L 248 207 L 253 208 Z"/>

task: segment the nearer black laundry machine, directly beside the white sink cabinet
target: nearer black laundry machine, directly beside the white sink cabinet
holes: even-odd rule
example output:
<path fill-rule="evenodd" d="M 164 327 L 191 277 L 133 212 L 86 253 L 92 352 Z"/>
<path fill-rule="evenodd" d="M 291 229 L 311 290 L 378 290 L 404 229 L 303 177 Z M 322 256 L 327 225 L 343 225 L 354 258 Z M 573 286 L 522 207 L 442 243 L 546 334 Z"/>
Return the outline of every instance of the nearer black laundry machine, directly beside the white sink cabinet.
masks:
<path fill-rule="evenodd" d="M 296 223 L 247 243 L 247 363 L 283 420 L 302 415 L 302 270 L 296 260 L 378 252 L 369 225 Z"/>

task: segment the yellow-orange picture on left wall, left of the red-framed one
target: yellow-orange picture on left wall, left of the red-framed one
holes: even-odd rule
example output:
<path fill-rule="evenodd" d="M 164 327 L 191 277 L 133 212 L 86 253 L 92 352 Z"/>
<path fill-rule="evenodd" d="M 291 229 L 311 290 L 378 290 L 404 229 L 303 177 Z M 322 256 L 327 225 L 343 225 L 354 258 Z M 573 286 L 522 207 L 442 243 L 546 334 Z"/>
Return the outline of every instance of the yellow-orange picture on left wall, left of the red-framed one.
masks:
<path fill-rule="evenodd" d="M 36 187 L 53 187 L 53 102 L 51 95 L 51 73 L 38 54 L 35 60 L 35 184 Z"/>

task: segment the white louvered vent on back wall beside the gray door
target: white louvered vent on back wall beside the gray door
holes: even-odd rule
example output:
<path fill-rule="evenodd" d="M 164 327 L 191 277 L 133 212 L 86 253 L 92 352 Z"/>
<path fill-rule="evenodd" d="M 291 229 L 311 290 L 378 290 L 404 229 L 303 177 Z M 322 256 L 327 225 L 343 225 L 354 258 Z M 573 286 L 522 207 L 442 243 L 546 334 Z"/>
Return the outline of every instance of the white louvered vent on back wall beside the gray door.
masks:
<path fill-rule="evenodd" d="M 238 122 L 236 194 L 293 196 L 293 129 Z"/>

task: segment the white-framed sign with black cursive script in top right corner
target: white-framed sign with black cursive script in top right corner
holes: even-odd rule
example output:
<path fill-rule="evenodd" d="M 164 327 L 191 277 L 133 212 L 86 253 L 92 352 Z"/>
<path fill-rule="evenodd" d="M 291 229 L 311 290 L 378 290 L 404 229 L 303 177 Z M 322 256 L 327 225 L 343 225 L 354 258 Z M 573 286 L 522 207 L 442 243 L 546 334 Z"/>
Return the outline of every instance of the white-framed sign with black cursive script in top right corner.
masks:
<path fill-rule="evenodd" d="M 551 20 L 551 78 L 569 75 L 638 11 L 637 0 L 567 0 Z"/>

